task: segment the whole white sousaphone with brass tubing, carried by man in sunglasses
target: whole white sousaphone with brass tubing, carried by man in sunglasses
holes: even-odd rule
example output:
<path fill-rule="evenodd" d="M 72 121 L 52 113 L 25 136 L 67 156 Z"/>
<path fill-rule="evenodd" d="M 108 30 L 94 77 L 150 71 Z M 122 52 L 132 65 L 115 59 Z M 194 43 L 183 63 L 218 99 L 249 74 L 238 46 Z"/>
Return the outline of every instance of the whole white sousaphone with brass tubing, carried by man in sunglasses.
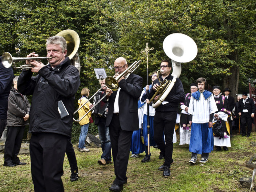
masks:
<path fill-rule="evenodd" d="M 156 93 L 152 97 L 159 95 L 159 98 L 153 101 L 153 107 L 157 108 L 167 95 L 170 93 L 176 79 L 179 78 L 181 74 L 181 63 L 186 63 L 192 61 L 197 54 L 197 46 L 191 37 L 182 33 L 172 33 L 168 35 L 163 41 L 163 50 L 166 55 L 171 58 L 172 62 L 172 81 L 167 81 L 162 83 L 158 87 Z M 160 82 L 160 80 L 159 80 Z M 161 82 L 160 82 L 161 83 Z"/>

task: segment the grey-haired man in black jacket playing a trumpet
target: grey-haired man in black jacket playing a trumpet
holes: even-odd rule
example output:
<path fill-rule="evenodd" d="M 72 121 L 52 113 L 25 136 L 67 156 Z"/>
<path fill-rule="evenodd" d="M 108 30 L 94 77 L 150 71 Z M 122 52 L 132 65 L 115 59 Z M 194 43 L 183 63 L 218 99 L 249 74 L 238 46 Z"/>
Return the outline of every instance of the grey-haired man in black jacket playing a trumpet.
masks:
<path fill-rule="evenodd" d="M 60 36 L 46 41 L 49 65 L 40 61 L 26 61 L 34 68 L 23 70 L 18 79 L 18 90 L 33 95 L 29 132 L 32 133 L 29 151 L 34 191 L 64 191 L 61 176 L 66 143 L 71 137 L 74 99 L 80 85 L 79 72 L 66 57 L 66 40 Z M 37 57 L 30 53 L 27 57 Z M 32 74 L 37 73 L 32 77 Z M 58 103 L 68 114 L 61 117 Z M 62 113 L 63 114 L 63 113 Z"/>

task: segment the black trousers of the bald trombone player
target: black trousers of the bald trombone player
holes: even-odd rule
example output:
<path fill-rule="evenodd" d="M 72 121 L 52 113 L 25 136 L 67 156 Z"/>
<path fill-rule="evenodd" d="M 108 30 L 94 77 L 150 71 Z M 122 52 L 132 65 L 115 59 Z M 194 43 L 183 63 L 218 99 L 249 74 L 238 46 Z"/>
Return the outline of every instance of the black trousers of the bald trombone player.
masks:
<path fill-rule="evenodd" d="M 126 172 L 133 131 L 122 130 L 119 122 L 119 116 L 113 114 L 113 118 L 109 125 L 109 134 L 116 176 L 114 183 L 121 185 L 127 181 Z"/>

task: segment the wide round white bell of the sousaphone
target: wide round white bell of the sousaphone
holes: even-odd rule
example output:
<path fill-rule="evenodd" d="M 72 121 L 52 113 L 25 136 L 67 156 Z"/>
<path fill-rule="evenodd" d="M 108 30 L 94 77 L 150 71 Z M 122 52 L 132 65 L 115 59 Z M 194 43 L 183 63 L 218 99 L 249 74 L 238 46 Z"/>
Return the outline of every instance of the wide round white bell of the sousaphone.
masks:
<path fill-rule="evenodd" d="M 182 33 L 172 33 L 163 41 L 163 50 L 172 60 L 180 63 L 192 61 L 197 54 L 195 41 Z"/>

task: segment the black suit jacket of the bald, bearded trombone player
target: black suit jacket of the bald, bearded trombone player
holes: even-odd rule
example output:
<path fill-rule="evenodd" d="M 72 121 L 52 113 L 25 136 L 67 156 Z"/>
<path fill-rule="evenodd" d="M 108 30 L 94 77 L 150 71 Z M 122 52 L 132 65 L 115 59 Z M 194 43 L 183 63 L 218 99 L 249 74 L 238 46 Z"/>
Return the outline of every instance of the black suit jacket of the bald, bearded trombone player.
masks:
<path fill-rule="evenodd" d="M 130 74 L 127 79 L 119 82 L 121 88 L 118 98 L 119 120 L 122 130 L 139 130 L 138 98 L 141 96 L 143 78 L 139 75 Z M 109 97 L 109 109 L 107 111 L 106 125 L 109 126 L 114 112 L 114 102 L 117 91 Z"/>

